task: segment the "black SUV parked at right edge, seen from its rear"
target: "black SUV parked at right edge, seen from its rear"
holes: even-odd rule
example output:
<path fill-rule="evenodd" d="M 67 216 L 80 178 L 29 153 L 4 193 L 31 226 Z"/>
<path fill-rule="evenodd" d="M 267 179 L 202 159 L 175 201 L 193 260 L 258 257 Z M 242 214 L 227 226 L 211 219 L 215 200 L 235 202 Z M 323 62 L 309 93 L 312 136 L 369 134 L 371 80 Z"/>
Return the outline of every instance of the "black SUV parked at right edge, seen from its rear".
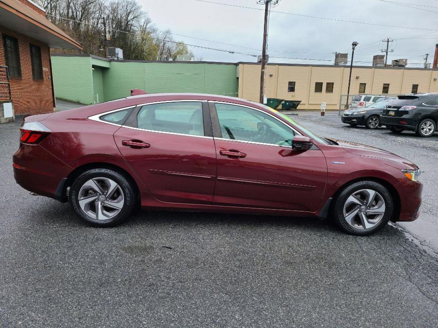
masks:
<path fill-rule="evenodd" d="M 394 133 L 411 130 L 417 136 L 433 136 L 438 122 L 438 93 L 398 96 L 386 106 L 380 121 Z"/>

